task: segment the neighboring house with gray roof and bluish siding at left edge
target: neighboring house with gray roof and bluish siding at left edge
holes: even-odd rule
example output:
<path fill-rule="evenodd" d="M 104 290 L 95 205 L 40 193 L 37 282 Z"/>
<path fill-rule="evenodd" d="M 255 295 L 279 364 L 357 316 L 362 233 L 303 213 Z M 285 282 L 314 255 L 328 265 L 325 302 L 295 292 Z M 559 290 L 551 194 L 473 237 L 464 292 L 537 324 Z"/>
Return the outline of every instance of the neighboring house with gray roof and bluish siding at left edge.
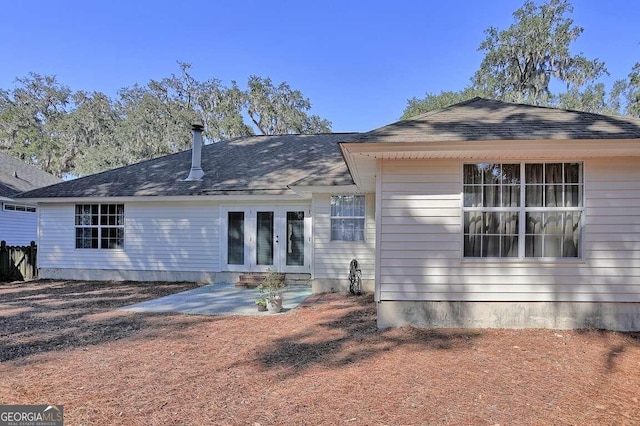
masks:
<path fill-rule="evenodd" d="M 57 182 L 55 176 L 0 152 L 0 240 L 27 246 L 37 239 L 36 205 L 13 197 Z"/>

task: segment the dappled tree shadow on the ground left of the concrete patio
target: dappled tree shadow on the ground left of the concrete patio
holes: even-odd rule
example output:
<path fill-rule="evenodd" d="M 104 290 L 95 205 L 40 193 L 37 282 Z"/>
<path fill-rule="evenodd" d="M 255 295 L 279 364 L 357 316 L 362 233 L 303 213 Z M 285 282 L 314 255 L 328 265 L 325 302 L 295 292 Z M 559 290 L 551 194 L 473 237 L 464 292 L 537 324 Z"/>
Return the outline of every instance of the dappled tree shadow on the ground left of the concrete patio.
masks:
<path fill-rule="evenodd" d="M 134 336 L 167 314 L 117 308 L 197 287 L 194 283 L 48 281 L 0 284 L 0 362 Z M 172 320 L 176 329 L 210 317 Z"/>

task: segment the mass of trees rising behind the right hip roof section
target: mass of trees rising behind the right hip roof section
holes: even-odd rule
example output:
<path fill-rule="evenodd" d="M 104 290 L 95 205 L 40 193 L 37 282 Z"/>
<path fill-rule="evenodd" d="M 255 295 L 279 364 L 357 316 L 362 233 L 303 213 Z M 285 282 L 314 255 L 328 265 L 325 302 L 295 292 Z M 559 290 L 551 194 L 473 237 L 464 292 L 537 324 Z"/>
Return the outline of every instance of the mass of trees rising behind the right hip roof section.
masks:
<path fill-rule="evenodd" d="M 479 48 L 485 57 L 471 87 L 409 99 L 402 118 L 475 96 L 640 117 L 640 63 L 633 67 L 628 80 L 616 81 L 607 93 L 605 85 L 596 82 L 607 74 L 604 63 L 571 52 L 571 44 L 583 32 L 568 17 L 572 12 L 568 0 L 548 0 L 540 5 L 526 1 L 514 12 L 515 22 L 509 28 L 485 31 L 486 39 Z M 566 91 L 552 93 L 554 80 Z"/>

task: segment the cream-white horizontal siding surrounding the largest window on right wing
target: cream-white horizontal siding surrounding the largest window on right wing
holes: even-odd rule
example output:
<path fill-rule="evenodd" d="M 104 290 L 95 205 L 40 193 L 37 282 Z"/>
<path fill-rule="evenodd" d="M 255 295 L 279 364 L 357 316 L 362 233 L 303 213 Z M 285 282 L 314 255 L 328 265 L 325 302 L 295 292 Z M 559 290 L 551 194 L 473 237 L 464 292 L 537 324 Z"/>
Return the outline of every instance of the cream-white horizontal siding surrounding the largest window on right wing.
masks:
<path fill-rule="evenodd" d="M 584 259 L 462 260 L 461 163 L 384 161 L 381 300 L 640 302 L 638 159 L 584 170 Z"/>

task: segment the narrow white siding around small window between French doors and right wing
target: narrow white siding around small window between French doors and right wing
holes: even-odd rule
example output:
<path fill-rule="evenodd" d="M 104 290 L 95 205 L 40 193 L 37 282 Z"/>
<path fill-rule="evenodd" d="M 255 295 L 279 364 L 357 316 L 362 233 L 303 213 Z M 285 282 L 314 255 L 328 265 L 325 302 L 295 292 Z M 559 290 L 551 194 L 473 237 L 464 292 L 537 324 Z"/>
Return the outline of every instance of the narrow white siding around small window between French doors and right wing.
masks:
<path fill-rule="evenodd" d="M 375 278 L 375 197 L 366 194 L 365 241 L 331 241 L 331 196 L 315 194 L 313 212 L 313 263 L 316 279 L 347 279 L 351 259 L 358 259 L 362 278 Z"/>

